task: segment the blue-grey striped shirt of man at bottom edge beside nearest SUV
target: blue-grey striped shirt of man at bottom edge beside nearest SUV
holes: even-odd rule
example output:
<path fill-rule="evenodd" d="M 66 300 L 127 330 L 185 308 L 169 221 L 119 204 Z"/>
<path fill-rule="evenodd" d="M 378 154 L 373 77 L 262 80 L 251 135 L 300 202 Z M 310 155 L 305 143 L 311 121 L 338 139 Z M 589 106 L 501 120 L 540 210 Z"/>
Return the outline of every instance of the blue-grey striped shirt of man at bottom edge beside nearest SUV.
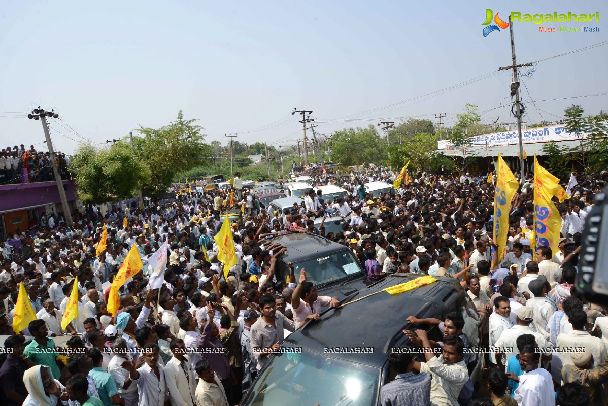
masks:
<path fill-rule="evenodd" d="M 382 406 L 430 406 L 430 374 L 399 374 L 380 390 Z"/>

